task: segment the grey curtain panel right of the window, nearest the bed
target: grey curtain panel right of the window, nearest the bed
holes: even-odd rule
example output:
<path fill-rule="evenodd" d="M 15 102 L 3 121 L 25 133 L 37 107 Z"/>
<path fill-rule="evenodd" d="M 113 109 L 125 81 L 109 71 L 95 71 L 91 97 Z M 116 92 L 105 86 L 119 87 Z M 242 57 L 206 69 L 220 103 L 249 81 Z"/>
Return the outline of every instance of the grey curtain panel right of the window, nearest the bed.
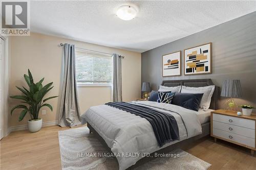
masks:
<path fill-rule="evenodd" d="M 118 54 L 113 54 L 113 102 L 122 101 L 122 67 L 121 57 Z"/>

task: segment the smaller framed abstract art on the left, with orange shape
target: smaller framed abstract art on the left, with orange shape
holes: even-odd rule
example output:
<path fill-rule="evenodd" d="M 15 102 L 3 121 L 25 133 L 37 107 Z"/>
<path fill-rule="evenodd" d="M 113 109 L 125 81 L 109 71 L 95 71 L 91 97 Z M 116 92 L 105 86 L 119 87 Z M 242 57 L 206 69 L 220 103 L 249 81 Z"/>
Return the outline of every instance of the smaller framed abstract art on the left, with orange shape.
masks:
<path fill-rule="evenodd" d="M 163 55 L 162 73 L 163 77 L 181 75 L 181 51 Z"/>

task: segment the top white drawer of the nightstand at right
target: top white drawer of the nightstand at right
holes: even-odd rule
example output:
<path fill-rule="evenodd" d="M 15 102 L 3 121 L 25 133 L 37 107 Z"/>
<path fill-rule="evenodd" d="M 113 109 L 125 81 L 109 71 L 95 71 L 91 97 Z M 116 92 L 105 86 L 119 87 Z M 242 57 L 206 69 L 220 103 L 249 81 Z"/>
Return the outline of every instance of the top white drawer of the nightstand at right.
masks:
<path fill-rule="evenodd" d="M 226 116 L 226 115 L 215 114 L 215 113 L 212 114 L 212 119 L 215 121 L 230 124 L 230 125 L 236 125 L 236 126 L 241 126 L 241 127 L 245 127 L 245 128 L 255 129 L 255 121 L 254 120 Z"/>

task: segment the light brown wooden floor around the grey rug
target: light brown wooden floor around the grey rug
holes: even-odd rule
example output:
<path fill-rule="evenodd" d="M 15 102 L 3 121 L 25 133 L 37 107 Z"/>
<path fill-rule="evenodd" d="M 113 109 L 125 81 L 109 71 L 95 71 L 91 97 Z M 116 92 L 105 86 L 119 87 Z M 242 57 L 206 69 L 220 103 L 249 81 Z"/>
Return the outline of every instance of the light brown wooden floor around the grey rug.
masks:
<path fill-rule="evenodd" d="M 44 127 L 30 133 L 12 132 L 1 140 L 1 170 L 61 169 L 58 131 L 69 128 Z M 186 152 L 212 164 L 210 169 L 256 169 L 250 150 L 212 138 L 200 140 Z"/>

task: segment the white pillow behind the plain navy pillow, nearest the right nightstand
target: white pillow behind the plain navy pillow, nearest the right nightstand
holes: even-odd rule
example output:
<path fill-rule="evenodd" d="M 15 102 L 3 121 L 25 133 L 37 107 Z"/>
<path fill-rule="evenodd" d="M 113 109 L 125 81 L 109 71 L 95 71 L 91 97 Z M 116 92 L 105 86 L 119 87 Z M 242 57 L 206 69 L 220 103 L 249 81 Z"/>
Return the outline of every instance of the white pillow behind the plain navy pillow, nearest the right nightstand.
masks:
<path fill-rule="evenodd" d="M 214 93 L 215 85 L 204 87 L 182 86 L 181 93 L 204 93 L 199 108 L 206 111 L 210 107 L 211 96 Z"/>

